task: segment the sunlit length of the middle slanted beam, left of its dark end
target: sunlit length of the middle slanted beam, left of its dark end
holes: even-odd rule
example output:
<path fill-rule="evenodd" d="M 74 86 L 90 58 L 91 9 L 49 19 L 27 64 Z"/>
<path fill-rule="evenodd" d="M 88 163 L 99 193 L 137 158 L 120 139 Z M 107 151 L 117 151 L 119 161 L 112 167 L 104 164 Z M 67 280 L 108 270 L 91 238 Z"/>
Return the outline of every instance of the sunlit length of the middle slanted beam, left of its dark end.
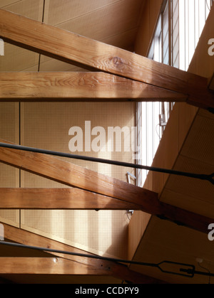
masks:
<path fill-rule="evenodd" d="M 6 142 L 2 139 L 0 141 Z M 46 154 L 1 147 L 0 161 L 66 186 L 74 186 L 137 205 L 142 205 L 143 202 L 148 204 L 154 198 L 158 198 L 158 193 L 153 191 L 84 169 Z"/>

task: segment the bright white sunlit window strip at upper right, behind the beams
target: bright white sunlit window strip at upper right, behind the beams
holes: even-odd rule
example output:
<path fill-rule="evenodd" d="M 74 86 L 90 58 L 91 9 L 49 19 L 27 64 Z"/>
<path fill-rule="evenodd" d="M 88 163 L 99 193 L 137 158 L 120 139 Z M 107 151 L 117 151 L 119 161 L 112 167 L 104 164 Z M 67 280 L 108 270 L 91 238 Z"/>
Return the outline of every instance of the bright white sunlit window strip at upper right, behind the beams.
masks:
<path fill-rule="evenodd" d="M 212 0 L 166 1 L 148 58 L 187 71 L 212 4 Z M 138 103 L 138 164 L 151 166 L 172 110 L 169 102 Z M 138 186 L 143 186 L 147 174 L 138 171 Z"/>

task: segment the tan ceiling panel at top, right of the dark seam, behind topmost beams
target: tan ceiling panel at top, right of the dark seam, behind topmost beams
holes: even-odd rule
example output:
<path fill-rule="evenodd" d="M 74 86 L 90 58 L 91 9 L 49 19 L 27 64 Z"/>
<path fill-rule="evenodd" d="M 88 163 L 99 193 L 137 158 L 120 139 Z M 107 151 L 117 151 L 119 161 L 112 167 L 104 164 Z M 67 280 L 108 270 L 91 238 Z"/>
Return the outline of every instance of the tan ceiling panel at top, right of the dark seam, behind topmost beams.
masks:
<path fill-rule="evenodd" d="M 81 36 L 131 50 L 138 31 L 141 0 L 45 2 L 44 22 Z M 80 49 L 81 50 L 81 49 Z M 41 55 L 40 70 L 76 71 L 72 65 Z M 77 69 L 81 70 L 82 69 Z"/>

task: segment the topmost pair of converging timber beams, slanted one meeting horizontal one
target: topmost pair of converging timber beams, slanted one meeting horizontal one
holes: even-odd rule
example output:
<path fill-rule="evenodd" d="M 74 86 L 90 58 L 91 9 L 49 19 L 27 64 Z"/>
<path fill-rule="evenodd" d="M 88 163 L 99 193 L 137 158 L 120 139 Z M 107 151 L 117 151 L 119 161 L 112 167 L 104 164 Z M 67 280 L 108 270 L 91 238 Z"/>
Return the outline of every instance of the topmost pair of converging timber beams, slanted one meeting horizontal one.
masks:
<path fill-rule="evenodd" d="M 156 100 L 214 108 L 207 78 L 2 9 L 0 37 L 36 53 L 98 71 L 1 73 L 0 100 Z"/>

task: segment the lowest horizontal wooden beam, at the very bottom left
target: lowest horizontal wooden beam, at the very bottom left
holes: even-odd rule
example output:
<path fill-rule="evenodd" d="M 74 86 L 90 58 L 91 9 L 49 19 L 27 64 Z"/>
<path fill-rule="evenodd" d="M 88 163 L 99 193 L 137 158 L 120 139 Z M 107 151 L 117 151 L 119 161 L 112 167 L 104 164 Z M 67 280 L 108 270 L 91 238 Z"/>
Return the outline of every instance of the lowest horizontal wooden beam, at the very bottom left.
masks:
<path fill-rule="evenodd" d="M 10 275 L 99 275 L 125 277 L 128 282 L 137 284 L 161 284 L 161 280 L 142 275 L 125 266 L 113 264 L 112 267 L 92 267 L 61 257 L 0 257 L 0 274 Z M 108 262 L 109 263 L 109 262 Z M 115 273 L 118 269 L 119 272 Z M 121 271 L 124 270 L 124 271 Z M 124 273 L 125 272 L 125 273 Z M 127 274 L 128 272 L 128 274 Z M 129 280 L 127 280 L 129 278 Z"/>

